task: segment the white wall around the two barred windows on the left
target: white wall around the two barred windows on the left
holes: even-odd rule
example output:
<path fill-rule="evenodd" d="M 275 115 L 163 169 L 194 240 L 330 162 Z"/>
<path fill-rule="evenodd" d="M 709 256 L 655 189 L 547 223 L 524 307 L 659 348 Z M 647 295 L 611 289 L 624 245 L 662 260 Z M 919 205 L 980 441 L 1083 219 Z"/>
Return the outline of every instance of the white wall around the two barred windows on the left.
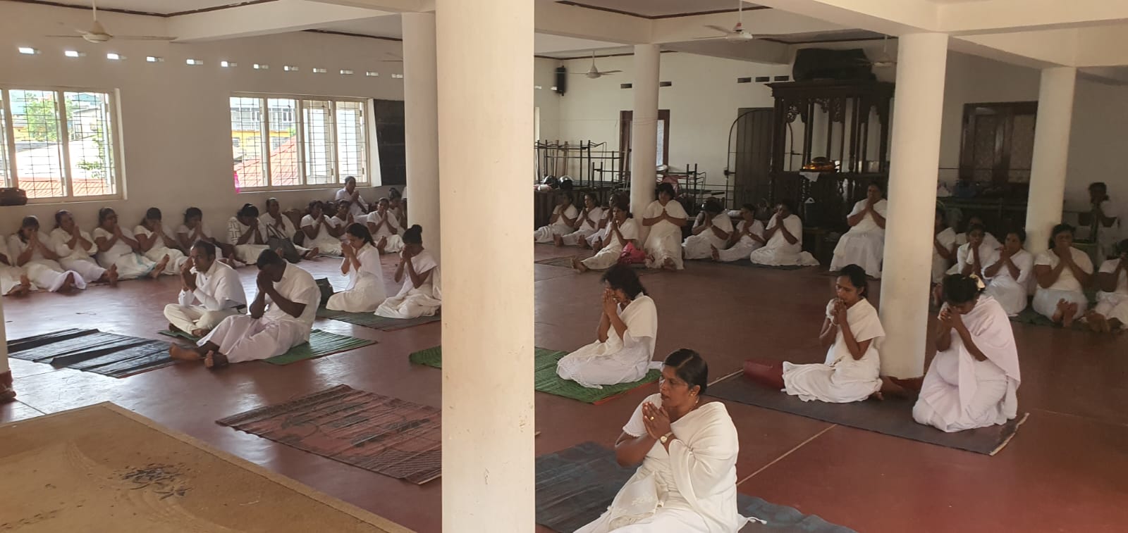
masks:
<path fill-rule="evenodd" d="M 99 14 L 111 33 L 162 35 L 165 21 L 155 17 Z M 56 23 L 65 23 L 60 25 Z M 178 221 L 185 207 L 204 210 L 212 231 L 244 203 L 259 206 L 276 196 L 283 207 L 305 205 L 332 190 L 236 194 L 231 179 L 231 139 L 228 97 L 231 92 L 279 92 L 354 98 L 403 99 L 398 63 L 382 63 L 385 52 L 400 53 L 398 42 L 314 33 L 291 33 L 196 44 L 114 41 L 95 45 L 76 38 L 47 38 L 69 27 L 86 27 L 89 12 L 15 2 L 0 2 L 0 83 L 14 86 L 63 86 L 118 89 L 124 142 L 125 199 L 105 203 L 67 203 L 0 207 L 0 232 L 16 230 L 27 214 L 53 225 L 54 212 L 72 211 L 83 226 L 94 226 L 97 210 L 114 207 L 123 223 L 133 224 L 144 210 L 160 207 L 166 220 Z M 20 55 L 17 46 L 33 46 L 38 55 Z M 85 57 L 63 56 L 63 50 L 85 52 Z M 112 62 L 106 52 L 126 59 Z M 147 63 L 144 56 L 162 56 Z M 203 60 L 188 66 L 188 57 Z M 238 63 L 221 69 L 221 60 Z M 270 70 L 253 70 L 266 63 Z M 300 66 L 283 72 L 283 64 Z M 314 74 L 311 68 L 328 73 Z M 341 75 L 352 69 L 353 75 Z M 364 71 L 380 72 L 370 78 Z M 370 159 L 376 165 L 374 156 Z M 365 196 L 378 192 L 368 190 Z"/>

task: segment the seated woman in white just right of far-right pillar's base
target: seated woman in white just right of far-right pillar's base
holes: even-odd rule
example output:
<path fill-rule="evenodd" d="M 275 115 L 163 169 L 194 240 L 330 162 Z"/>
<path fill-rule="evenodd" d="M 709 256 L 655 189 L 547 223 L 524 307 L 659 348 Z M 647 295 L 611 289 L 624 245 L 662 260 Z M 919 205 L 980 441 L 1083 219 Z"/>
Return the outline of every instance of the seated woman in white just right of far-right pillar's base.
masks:
<path fill-rule="evenodd" d="M 1032 307 L 1055 323 L 1068 328 L 1087 311 L 1085 286 L 1093 274 L 1093 261 L 1073 247 L 1073 226 L 1058 224 L 1050 237 L 1050 249 L 1034 260 L 1038 290 Z"/>

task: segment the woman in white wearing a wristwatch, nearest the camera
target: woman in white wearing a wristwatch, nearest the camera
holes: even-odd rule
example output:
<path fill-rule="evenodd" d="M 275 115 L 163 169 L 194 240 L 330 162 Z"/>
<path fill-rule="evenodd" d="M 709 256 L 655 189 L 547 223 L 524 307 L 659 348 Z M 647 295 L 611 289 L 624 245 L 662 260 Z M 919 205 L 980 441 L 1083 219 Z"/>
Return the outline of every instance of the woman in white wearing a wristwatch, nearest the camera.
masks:
<path fill-rule="evenodd" d="M 615 442 L 622 467 L 640 465 L 599 518 L 575 533 L 737 533 L 737 427 L 721 402 L 703 402 L 708 365 L 679 349 L 662 365 L 659 393 Z"/>

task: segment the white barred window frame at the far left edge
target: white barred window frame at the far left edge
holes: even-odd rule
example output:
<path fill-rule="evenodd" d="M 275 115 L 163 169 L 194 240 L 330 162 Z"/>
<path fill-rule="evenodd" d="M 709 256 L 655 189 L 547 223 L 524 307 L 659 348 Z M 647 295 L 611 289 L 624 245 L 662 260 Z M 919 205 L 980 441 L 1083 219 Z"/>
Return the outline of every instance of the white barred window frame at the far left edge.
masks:
<path fill-rule="evenodd" d="M 121 91 L 117 89 L 107 89 L 98 87 L 72 87 L 72 86 L 25 86 L 19 83 L 0 83 L 0 113 L 3 114 L 3 137 L 6 141 L 5 152 L 8 157 L 8 178 L 6 180 L 0 180 L 0 185 L 5 187 L 19 187 L 19 162 L 16 151 L 16 124 L 12 118 L 11 110 L 11 91 L 12 90 L 25 90 L 25 91 L 51 91 L 55 94 L 55 113 L 59 118 L 59 139 L 63 149 L 60 151 L 60 166 L 62 166 L 62 196 L 50 196 L 44 198 L 33 198 L 28 197 L 28 205 L 32 204 L 67 204 L 74 202 L 106 202 L 115 199 L 125 199 L 125 165 L 124 165 L 124 151 L 122 150 L 122 115 L 118 100 L 121 98 Z M 74 196 L 74 184 L 73 184 L 73 168 L 70 165 L 70 125 L 67 124 L 67 92 L 96 92 L 100 95 L 106 95 L 107 98 L 107 109 L 106 114 L 111 117 L 109 132 L 106 135 L 111 142 L 111 153 L 114 158 L 114 163 L 112 166 L 114 170 L 113 179 L 113 194 L 103 195 L 89 195 L 89 196 Z"/>

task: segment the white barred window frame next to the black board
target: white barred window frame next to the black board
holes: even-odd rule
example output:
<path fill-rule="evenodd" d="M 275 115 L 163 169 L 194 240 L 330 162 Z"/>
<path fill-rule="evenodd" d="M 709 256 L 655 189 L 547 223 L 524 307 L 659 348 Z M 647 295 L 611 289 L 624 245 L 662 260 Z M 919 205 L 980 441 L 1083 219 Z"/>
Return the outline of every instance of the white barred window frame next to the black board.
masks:
<path fill-rule="evenodd" d="M 282 92 L 240 92 L 240 91 L 235 91 L 235 92 L 231 92 L 231 94 L 228 95 L 228 103 L 229 103 L 228 107 L 229 108 L 230 108 L 230 99 L 231 98 L 256 98 L 256 99 L 258 99 L 259 109 L 261 109 L 259 110 L 259 117 L 258 117 L 258 130 L 262 132 L 261 135 L 264 139 L 264 141 L 262 141 L 262 144 L 267 150 L 267 153 L 265 153 L 264 157 L 262 158 L 263 176 L 264 176 L 263 181 L 266 185 L 258 186 L 258 187 L 248 187 L 248 186 L 246 186 L 246 185 L 244 185 L 244 184 L 240 183 L 239 184 L 239 193 L 262 193 L 262 192 L 268 192 L 268 190 L 311 190 L 311 189 L 331 189 L 331 188 L 335 189 L 335 188 L 343 187 L 344 186 L 344 179 L 347 176 L 353 176 L 353 175 L 345 175 L 345 174 L 341 172 L 341 161 L 340 161 L 341 145 L 340 145 L 340 135 L 338 135 L 338 132 L 337 132 L 337 103 L 340 103 L 340 101 L 356 103 L 356 104 L 360 104 L 362 106 L 362 108 L 363 108 L 363 112 L 364 112 L 365 116 L 364 116 L 364 123 L 363 123 L 361 130 L 364 133 L 364 151 L 363 151 L 363 153 L 364 153 L 364 176 L 363 176 L 363 179 L 361 179 L 361 176 L 355 176 L 355 178 L 356 178 L 356 185 L 358 186 L 361 186 L 361 187 L 374 186 L 377 176 L 373 176 L 373 174 L 374 174 L 374 171 L 373 171 L 373 161 L 379 161 L 379 159 L 376 158 L 376 157 L 373 157 L 373 153 L 372 153 L 373 143 L 377 142 L 377 141 L 374 139 L 374 133 L 373 133 L 374 132 L 373 124 L 372 124 L 373 112 L 372 112 L 372 103 L 371 103 L 370 98 L 358 98 L 358 97 L 347 97 L 347 96 L 294 95 L 294 94 L 282 94 Z M 272 143 L 272 136 L 271 136 L 271 127 L 272 127 L 272 125 L 271 125 L 272 124 L 271 113 L 272 112 L 271 112 L 271 108 L 270 108 L 270 100 L 271 99 L 291 99 L 291 100 L 294 100 L 297 103 L 297 105 L 292 109 L 292 113 L 293 113 L 293 121 L 292 122 L 293 122 L 294 130 L 296 130 L 294 136 L 298 139 L 298 141 L 297 141 L 298 142 L 298 146 L 297 146 L 297 161 L 294 162 L 296 167 L 297 167 L 297 171 L 298 171 L 298 179 L 300 181 L 298 185 L 273 185 L 272 184 L 271 152 L 274 149 L 271 146 L 271 143 Z M 333 161 L 332 161 L 333 172 L 332 174 L 336 177 L 336 180 L 332 181 L 332 183 L 323 183 L 323 184 L 316 184 L 316 183 L 311 184 L 311 183 L 309 183 L 309 175 L 308 175 L 308 171 L 306 169 L 306 163 L 307 163 L 306 159 L 307 159 L 307 156 L 306 156 L 306 131 L 305 131 L 306 130 L 306 116 L 305 115 L 306 115 L 306 101 L 307 100 L 328 101 L 329 103 L 329 116 L 326 119 L 326 127 L 329 131 L 329 137 L 331 137 L 332 146 L 333 146 L 333 150 L 332 150 L 332 153 L 333 153 Z M 241 110 L 243 110 L 243 108 L 240 108 L 240 112 Z M 231 125 L 230 122 L 231 121 L 228 121 L 228 126 L 229 127 Z M 228 132 L 228 133 L 230 134 L 230 132 Z M 233 179 L 233 166 L 232 166 L 232 179 Z"/>

